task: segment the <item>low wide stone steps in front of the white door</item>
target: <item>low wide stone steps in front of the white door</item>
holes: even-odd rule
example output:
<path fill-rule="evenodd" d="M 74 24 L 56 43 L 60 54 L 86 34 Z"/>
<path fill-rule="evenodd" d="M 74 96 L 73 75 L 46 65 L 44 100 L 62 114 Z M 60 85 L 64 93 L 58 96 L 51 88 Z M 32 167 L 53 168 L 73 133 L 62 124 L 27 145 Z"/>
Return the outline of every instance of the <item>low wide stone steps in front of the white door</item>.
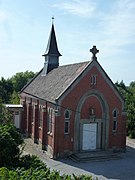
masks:
<path fill-rule="evenodd" d="M 110 151 L 89 151 L 80 152 L 70 155 L 70 159 L 77 162 L 87 161 L 108 161 L 114 159 L 120 159 L 120 153 L 114 153 Z"/>

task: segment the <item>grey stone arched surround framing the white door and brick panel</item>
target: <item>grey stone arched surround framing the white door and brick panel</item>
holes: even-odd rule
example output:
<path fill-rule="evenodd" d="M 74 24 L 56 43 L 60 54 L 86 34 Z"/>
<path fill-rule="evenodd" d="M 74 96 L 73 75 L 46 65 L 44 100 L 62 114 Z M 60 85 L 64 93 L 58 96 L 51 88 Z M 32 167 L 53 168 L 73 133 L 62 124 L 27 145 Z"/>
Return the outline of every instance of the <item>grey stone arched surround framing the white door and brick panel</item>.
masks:
<path fill-rule="evenodd" d="M 108 139 L 109 139 L 109 107 L 107 104 L 107 101 L 103 94 L 101 94 L 98 90 L 91 90 L 88 91 L 86 94 L 82 96 L 80 99 L 77 109 L 76 109 L 76 115 L 75 115 L 75 124 L 74 124 L 74 152 L 82 151 L 82 132 L 83 132 L 83 123 L 90 123 L 90 119 L 81 119 L 81 115 L 78 112 L 81 112 L 82 106 L 87 98 L 90 96 L 95 96 L 99 100 L 102 108 L 102 119 L 95 119 L 95 122 L 100 123 L 101 128 L 101 134 L 102 134 L 102 140 L 101 140 L 101 146 L 99 148 L 101 149 L 107 149 L 108 148 Z M 101 125 L 102 124 L 102 125 Z M 98 124 L 98 130 L 99 130 L 99 124 Z M 98 132 L 99 137 L 99 132 Z M 99 142 L 99 138 L 97 139 L 97 142 Z"/>

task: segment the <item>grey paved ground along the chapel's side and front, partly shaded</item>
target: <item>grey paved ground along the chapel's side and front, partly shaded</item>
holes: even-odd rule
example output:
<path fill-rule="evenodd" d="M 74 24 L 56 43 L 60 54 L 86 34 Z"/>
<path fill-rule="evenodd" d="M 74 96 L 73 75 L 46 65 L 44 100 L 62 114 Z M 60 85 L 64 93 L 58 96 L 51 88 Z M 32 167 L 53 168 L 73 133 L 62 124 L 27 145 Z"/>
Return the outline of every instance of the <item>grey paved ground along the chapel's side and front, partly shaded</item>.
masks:
<path fill-rule="evenodd" d="M 30 138 L 25 139 L 25 142 L 25 152 L 37 155 L 50 169 L 60 171 L 61 174 L 90 174 L 99 180 L 135 180 L 135 140 L 127 138 L 127 151 L 122 153 L 121 159 L 85 163 L 76 163 L 70 159 L 52 160 Z"/>

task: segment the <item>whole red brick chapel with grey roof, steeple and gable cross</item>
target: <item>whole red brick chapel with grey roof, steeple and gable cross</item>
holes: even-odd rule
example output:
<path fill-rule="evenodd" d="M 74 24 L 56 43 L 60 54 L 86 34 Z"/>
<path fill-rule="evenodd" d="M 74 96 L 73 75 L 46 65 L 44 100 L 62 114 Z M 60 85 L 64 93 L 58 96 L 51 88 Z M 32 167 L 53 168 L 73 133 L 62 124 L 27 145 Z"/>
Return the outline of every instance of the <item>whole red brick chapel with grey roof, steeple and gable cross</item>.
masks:
<path fill-rule="evenodd" d="M 59 66 L 52 23 L 44 67 L 21 90 L 21 128 L 52 158 L 126 147 L 123 97 L 90 51 L 90 61 Z"/>

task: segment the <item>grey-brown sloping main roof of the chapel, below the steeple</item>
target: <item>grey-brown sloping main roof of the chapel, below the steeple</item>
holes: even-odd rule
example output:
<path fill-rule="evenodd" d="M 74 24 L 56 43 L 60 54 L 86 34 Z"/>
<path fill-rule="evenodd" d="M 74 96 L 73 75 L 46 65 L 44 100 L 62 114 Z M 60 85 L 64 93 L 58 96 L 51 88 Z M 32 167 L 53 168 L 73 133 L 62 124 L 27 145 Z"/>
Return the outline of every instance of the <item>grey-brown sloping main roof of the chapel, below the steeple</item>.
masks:
<path fill-rule="evenodd" d="M 21 92 L 54 102 L 71 83 L 83 72 L 90 62 L 82 62 L 59 66 L 46 76 L 42 76 L 43 69 L 28 83 Z"/>

